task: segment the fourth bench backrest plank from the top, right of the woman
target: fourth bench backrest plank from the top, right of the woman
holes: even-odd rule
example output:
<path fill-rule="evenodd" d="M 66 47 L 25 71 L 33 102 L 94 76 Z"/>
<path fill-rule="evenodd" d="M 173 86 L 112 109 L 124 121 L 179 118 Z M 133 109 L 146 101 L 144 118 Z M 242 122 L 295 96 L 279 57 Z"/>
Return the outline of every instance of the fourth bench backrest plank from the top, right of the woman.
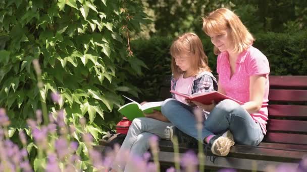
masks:
<path fill-rule="evenodd" d="M 307 133 L 307 121 L 271 119 L 268 121 L 267 130 Z"/>

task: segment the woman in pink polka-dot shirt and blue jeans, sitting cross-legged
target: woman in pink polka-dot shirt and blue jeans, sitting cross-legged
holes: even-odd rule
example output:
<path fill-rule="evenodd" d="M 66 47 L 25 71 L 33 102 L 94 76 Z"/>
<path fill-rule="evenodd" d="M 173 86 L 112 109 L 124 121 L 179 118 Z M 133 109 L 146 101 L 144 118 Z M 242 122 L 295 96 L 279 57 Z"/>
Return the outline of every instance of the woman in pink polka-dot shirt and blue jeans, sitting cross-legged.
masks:
<path fill-rule="evenodd" d="M 258 145 L 266 134 L 270 73 L 267 57 L 252 46 L 254 38 L 232 11 L 222 8 L 203 18 L 203 31 L 210 36 L 218 55 L 218 92 L 243 102 L 224 100 L 198 107 L 210 112 L 203 122 L 202 140 L 211 151 L 226 156 L 234 143 Z M 173 113 L 177 109 L 180 114 Z M 184 133 L 197 138 L 195 120 L 181 103 L 166 102 L 163 115 Z M 180 117 L 180 118 L 178 118 Z M 184 123 L 182 123 L 184 121 Z"/>

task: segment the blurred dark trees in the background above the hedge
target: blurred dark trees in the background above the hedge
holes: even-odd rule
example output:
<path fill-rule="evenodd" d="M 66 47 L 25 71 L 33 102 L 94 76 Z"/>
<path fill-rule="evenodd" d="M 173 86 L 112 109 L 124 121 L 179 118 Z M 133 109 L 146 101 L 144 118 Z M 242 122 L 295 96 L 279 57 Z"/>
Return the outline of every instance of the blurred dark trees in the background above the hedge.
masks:
<path fill-rule="evenodd" d="M 218 8 L 233 10 L 253 33 L 297 32 L 307 28 L 307 2 L 304 0 L 143 0 L 155 21 L 151 35 L 177 36 L 192 31 L 202 36 L 201 17 Z M 153 30 L 153 31 L 152 31 Z"/>

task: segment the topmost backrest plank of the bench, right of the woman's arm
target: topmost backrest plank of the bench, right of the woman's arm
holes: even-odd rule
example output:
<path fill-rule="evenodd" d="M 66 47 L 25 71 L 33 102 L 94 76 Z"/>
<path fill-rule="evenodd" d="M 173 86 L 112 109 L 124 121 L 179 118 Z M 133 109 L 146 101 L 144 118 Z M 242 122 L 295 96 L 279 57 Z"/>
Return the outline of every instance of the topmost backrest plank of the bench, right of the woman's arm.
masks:
<path fill-rule="evenodd" d="M 307 87 L 307 76 L 273 76 L 269 75 L 270 86 Z"/>

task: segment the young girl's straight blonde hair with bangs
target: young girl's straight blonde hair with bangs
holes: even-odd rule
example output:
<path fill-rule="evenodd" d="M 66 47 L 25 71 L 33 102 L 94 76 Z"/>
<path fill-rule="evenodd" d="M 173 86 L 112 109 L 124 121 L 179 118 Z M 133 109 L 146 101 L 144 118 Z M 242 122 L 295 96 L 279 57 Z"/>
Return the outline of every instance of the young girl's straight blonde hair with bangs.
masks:
<path fill-rule="evenodd" d="M 178 78 L 184 73 L 175 62 L 175 58 L 180 58 L 182 55 L 188 56 L 189 60 L 191 60 L 193 75 L 197 75 L 200 71 L 211 71 L 208 66 L 208 57 L 203 51 L 202 43 L 194 33 L 189 32 L 180 35 L 171 45 L 170 53 L 172 56 L 172 73 L 175 78 Z"/>

